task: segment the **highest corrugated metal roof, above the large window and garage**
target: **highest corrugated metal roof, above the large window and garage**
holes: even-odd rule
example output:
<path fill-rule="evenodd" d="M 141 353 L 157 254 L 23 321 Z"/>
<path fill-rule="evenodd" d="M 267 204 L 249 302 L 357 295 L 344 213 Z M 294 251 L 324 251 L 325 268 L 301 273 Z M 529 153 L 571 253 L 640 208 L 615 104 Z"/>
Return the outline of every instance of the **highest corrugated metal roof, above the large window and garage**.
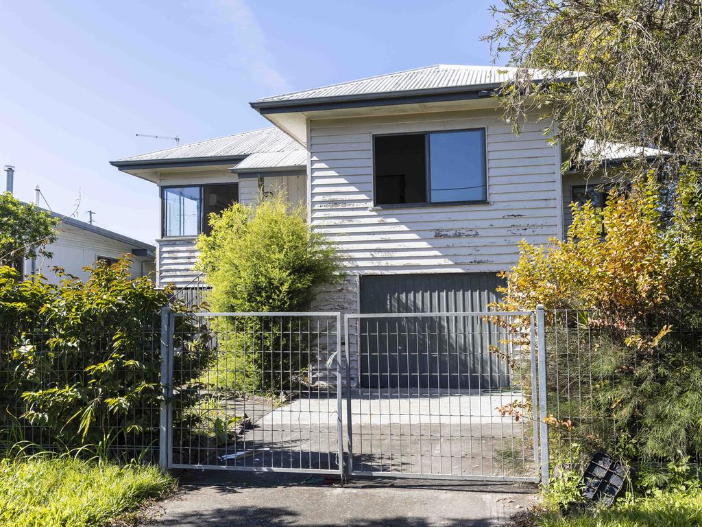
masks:
<path fill-rule="evenodd" d="M 504 66 L 437 64 L 420 67 L 415 70 L 404 70 L 340 84 L 331 84 L 321 88 L 260 98 L 256 100 L 256 103 L 501 84 L 513 79 L 516 71 L 516 68 Z M 565 76 L 567 74 L 564 74 Z M 534 79 L 541 79 L 541 75 L 538 72 L 534 72 Z"/>

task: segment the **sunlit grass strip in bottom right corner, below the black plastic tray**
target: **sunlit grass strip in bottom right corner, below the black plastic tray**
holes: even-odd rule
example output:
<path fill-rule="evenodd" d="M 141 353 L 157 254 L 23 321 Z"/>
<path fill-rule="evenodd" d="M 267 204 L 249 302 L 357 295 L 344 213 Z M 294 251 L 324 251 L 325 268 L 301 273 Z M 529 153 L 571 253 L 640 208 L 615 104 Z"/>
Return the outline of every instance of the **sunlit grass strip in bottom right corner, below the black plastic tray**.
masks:
<path fill-rule="evenodd" d="M 519 525 L 524 525 L 519 523 Z M 702 492 L 661 493 L 656 497 L 621 501 L 611 509 L 563 518 L 543 514 L 538 527 L 695 527 L 702 526 Z"/>

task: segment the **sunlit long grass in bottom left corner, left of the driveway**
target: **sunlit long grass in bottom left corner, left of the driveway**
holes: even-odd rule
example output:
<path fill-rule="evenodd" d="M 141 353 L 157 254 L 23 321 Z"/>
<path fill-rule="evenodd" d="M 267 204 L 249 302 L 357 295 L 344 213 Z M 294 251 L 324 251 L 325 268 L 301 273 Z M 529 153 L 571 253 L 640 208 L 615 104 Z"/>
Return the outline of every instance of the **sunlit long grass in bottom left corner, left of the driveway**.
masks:
<path fill-rule="evenodd" d="M 102 526 L 173 486 L 157 467 L 66 457 L 0 460 L 0 525 Z"/>

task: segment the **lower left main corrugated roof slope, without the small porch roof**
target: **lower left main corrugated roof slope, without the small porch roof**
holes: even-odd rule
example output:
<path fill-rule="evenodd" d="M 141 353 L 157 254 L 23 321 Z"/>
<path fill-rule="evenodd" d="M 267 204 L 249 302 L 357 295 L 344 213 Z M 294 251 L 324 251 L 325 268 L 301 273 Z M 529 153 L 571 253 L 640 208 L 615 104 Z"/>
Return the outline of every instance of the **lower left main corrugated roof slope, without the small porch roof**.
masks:
<path fill-rule="evenodd" d="M 299 150 L 300 148 L 300 143 L 284 131 L 271 126 L 270 128 L 242 132 L 233 136 L 208 139 L 198 143 L 124 157 L 124 159 L 118 160 L 117 163 L 184 160 L 201 157 L 237 157 L 256 152 L 281 152 L 284 150 Z"/>

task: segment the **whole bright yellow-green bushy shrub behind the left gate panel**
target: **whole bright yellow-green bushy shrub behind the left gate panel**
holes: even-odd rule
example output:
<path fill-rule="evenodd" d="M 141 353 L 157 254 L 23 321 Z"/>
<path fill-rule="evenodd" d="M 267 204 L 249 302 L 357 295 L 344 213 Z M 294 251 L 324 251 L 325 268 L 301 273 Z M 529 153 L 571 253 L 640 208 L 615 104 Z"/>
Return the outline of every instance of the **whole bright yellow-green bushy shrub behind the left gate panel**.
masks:
<path fill-rule="evenodd" d="M 306 311 L 317 287 L 341 278 L 333 247 L 283 193 L 262 197 L 256 206 L 234 204 L 209 221 L 211 234 L 198 241 L 198 265 L 212 286 L 208 301 L 215 311 Z M 210 380 L 247 392 L 291 390 L 313 360 L 293 324 L 254 317 L 220 321 L 219 362 Z"/>

